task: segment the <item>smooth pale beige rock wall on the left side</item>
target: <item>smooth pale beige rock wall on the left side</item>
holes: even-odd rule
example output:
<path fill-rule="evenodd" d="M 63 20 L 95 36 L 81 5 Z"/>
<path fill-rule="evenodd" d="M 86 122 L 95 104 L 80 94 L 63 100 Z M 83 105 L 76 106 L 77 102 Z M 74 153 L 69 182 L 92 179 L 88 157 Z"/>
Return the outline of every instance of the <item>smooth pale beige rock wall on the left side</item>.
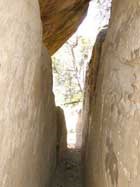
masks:
<path fill-rule="evenodd" d="M 0 8 L 0 186 L 46 187 L 56 122 L 38 1 L 1 0 Z"/>

